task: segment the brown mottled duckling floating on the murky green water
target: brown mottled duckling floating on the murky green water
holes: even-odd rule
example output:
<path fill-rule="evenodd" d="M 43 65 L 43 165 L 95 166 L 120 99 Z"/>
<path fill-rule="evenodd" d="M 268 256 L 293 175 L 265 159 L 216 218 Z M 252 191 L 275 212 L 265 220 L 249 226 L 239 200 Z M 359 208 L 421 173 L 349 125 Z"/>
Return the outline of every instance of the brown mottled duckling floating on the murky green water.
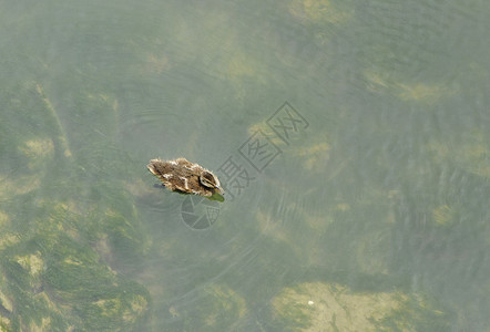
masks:
<path fill-rule="evenodd" d="M 172 191 L 205 197 L 211 197 L 216 191 L 224 194 L 220 180 L 211 170 L 191 163 L 186 158 L 167 162 L 151 159 L 146 167 Z"/>

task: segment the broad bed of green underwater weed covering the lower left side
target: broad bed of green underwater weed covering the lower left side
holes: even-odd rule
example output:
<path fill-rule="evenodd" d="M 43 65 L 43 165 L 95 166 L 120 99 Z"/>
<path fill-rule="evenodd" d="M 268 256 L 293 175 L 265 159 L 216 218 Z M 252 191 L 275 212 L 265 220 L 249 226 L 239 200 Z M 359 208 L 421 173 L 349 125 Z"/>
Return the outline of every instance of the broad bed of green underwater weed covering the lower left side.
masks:
<path fill-rule="evenodd" d="M 0 151 L 9 156 L 0 163 L 0 329 L 141 325 L 151 299 L 129 277 L 136 268 L 130 262 L 141 260 L 149 243 L 123 184 L 90 179 L 105 162 L 96 170 L 84 162 L 89 152 L 70 144 L 73 136 L 41 84 L 12 86 L 7 95 L 0 115 Z"/>

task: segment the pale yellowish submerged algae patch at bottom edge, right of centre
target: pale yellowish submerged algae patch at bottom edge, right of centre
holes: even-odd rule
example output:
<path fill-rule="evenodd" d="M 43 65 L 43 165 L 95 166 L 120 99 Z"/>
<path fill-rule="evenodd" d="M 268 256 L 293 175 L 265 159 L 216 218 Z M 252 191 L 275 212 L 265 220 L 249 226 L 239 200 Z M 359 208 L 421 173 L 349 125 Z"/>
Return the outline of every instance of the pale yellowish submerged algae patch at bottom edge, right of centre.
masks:
<path fill-rule="evenodd" d="M 449 328 L 445 313 L 402 292 L 355 292 L 337 283 L 302 283 L 273 301 L 278 325 L 294 331 L 431 331 Z"/>

